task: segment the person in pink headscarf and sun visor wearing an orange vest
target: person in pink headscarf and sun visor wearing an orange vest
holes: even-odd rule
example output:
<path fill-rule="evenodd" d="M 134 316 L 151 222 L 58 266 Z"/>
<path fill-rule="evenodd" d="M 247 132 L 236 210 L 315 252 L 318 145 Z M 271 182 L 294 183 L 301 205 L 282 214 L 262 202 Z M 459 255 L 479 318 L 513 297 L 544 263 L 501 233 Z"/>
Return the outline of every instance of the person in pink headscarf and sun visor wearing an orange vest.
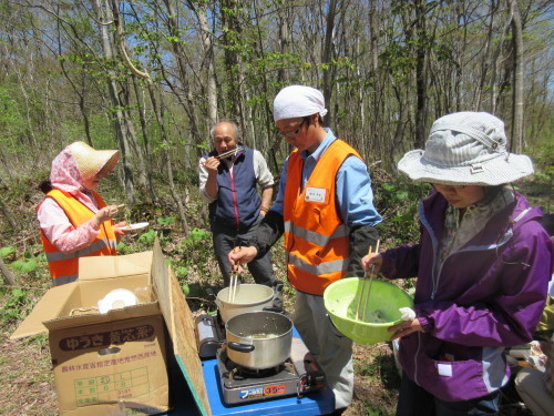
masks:
<path fill-rule="evenodd" d="M 54 286 L 79 278 L 79 257 L 117 255 L 117 235 L 125 234 L 126 223 L 114 224 L 117 206 L 106 205 L 95 190 L 119 159 L 117 150 L 74 142 L 52 161 L 37 217 Z"/>

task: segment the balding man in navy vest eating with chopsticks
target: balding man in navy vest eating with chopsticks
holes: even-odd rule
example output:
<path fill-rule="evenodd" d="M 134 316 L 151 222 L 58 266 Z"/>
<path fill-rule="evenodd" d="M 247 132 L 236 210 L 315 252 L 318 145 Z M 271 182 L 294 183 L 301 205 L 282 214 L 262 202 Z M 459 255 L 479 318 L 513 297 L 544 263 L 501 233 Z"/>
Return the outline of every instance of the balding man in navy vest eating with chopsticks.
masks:
<path fill-rule="evenodd" d="M 227 254 L 240 247 L 254 235 L 269 210 L 274 177 L 261 153 L 238 143 L 237 125 L 222 121 L 211 131 L 214 150 L 199 164 L 199 191 L 209 203 L 209 224 L 214 248 L 223 274 L 229 285 L 230 264 Z M 258 189 L 261 189 L 261 197 Z M 275 286 L 271 253 L 248 264 L 254 281 Z"/>

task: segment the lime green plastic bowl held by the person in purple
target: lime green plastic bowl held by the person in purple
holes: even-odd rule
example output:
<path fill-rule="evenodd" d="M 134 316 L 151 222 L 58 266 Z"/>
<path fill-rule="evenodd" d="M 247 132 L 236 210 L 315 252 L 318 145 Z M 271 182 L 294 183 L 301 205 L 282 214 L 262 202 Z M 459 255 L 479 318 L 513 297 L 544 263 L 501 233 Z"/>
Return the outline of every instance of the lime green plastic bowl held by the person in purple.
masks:
<path fill-rule="evenodd" d="M 368 292 L 369 278 L 347 277 L 331 283 L 324 293 L 325 307 L 337 329 L 362 345 L 389 341 L 392 333 L 387 329 L 402 322 L 399 308 L 413 305 L 406 292 L 388 282 L 373 280 L 369 297 Z M 363 300 L 368 301 L 366 311 Z"/>

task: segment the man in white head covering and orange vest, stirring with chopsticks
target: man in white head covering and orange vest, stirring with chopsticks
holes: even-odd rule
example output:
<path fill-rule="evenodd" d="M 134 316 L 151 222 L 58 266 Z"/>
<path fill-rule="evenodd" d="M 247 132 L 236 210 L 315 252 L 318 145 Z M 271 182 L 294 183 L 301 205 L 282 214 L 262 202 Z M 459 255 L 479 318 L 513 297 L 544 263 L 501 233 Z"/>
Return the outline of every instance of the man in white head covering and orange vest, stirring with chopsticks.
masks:
<path fill-rule="evenodd" d="M 322 126 L 325 114 L 324 95 L 310 87 L 287 87 L 275 98 L 277 130 L 296 150 L 250 246 L 229 253 L 229 261 L 247 263 L 264 255 L 285 234 L 288 280 L 296 288 L 294 323 L 325 371 L 340 414 L 353 393 L 352 342 L 330 322 L 322 294 L 339 278 L 361 275 L 360 258 L 375 245 L 381 216 L 367 165 Z"/>

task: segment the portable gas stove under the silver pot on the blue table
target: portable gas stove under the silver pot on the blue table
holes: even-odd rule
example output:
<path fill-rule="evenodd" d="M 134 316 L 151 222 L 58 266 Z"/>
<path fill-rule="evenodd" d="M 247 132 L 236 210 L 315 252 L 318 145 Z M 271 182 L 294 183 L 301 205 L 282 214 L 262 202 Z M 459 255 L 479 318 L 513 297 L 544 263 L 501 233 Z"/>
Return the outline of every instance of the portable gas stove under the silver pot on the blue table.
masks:
<path fill-rule="evenodd" d="M 293 334 L 295 335 L 295 332 Z M 217 315 L 198 316 L 196 335 L 201 358 L 216 358 L 217 375 L 226 405 L 293 395 L 301 397 L 326 385 L 324 372 L 299 336 L 293 336 L 290 357 L 283 364 L 271 368 L 250 369 L 234 363 L 227 356 L 224 345 L 225 325 Z"/>

